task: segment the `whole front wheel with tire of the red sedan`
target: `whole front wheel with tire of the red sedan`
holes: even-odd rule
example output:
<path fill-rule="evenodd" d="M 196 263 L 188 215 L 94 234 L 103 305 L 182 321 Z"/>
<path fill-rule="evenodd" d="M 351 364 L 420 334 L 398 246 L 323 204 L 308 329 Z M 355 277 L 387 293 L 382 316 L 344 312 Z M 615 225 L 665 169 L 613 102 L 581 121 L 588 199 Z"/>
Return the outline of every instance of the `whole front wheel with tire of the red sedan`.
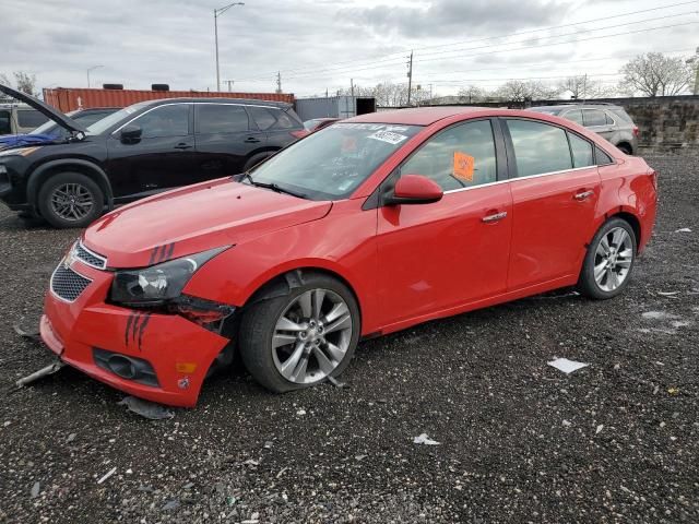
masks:
<path fill-rule="evenodd" d="M 284 393 L 337 377 L 360 333 L 359 308 L 337 279 L 304 274 L 287 295 L 249 306 L 239 332 L 242 361 L 264 388 Z"/>

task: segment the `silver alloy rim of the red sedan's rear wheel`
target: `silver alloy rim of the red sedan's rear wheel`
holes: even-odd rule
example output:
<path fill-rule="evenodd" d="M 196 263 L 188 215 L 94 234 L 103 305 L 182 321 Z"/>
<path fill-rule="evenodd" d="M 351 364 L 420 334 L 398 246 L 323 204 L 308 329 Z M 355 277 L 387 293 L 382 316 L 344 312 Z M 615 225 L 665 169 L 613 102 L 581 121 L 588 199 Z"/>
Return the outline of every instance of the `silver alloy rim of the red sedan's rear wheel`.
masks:
<path fill-rule="evenodd" d="M 633 263 L 633 242 L 623 227 L 602 236 L 594 255 L 594 279 L 603 291 L 613 291 L 626 281 Z"/>

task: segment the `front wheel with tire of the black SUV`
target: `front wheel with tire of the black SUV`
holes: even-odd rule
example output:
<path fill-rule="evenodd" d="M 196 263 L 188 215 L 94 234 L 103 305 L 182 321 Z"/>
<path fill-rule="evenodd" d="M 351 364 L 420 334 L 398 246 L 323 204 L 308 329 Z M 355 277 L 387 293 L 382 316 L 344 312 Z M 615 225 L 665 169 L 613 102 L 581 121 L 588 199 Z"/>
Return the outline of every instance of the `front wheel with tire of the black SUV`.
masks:
<path fill-rule="evenodd" d="M 37 203 L 42 217 L 54 227 L 86 227 L 102 216 L 105 196 L 90 177 L 67 171 L 44 182 Z"/>

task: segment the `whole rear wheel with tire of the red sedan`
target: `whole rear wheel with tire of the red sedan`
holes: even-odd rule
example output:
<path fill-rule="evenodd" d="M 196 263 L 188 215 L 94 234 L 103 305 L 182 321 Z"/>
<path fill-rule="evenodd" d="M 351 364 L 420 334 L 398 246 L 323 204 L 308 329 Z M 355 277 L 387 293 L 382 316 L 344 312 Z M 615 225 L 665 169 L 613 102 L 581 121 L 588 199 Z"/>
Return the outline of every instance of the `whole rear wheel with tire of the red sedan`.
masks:
<path fill-rule="evenodd" d="M 636 234 L 630 224 L 623 218 L 605 222 L 588 248 L 578 290 L 597 300 L 616 297 L 631 279 L 636 252 Z"/>

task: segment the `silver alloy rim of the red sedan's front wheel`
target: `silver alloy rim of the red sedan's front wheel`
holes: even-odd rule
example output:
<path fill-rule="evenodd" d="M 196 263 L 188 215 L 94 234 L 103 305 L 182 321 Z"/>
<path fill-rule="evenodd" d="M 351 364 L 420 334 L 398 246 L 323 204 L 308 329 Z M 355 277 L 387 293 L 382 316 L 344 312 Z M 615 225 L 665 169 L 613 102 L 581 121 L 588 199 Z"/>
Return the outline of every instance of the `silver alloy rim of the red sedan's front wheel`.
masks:
<path fill-rule="evenodd" d="M 352 341 L 352 313 L 330 289 L 304 291 L 279 317 L 272 336 L 276 370 L 293 383 L 318 382 L 343 361 Z"/>

